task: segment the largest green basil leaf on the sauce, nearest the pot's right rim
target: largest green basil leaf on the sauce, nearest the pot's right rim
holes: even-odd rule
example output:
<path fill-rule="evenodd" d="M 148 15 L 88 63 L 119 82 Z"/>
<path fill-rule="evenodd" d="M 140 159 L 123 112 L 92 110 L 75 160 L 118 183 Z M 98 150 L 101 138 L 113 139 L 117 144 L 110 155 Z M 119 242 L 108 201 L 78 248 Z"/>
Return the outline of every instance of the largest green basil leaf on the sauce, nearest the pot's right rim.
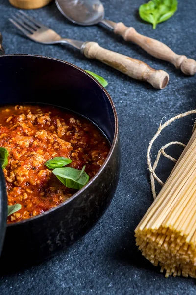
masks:
<path fill-rule="evenodd" d="M 82 170 L 63 167 L 56 168 L 52 172 L 66 187 L 80 189 L 89 181 L 89 176 L 84 170 L 85 166 Z"/>

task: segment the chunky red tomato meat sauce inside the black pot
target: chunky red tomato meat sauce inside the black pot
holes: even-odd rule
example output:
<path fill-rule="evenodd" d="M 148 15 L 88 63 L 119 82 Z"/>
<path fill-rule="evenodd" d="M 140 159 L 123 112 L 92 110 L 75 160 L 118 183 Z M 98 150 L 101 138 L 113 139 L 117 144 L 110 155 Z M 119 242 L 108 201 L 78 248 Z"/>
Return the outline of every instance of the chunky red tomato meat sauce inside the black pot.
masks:
<path fill-rule="evenodd" d="M 8 223 L 41 214 L 70 198 L 75 189 L 65 187 L 45 163 L 54 157 L 70 158 L 69 167 L 92 178 L 102 166 L 110 144 L 89 120 L 52 106 L 0 108 L 0 147 L 8 150 L 6 179 L 8 205 L 22 208 Z"/>

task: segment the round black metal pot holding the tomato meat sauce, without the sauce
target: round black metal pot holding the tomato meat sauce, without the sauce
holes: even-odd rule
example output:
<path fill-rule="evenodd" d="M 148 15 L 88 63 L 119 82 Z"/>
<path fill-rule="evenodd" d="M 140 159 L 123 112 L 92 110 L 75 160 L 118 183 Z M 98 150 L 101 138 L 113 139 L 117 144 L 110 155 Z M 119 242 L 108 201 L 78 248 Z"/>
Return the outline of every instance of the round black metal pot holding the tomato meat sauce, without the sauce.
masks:
<path fill-rule="evenodd" d="M 6 227 L 6 194 L 0 169 L 0 270 L 35 263 L 84 236 L 103 215 L 117 187 L 120 170 L 118 120 L 107 91 L 77 66 L 34 55 L 0 56 L 0 104 L 49 103 L 96 123 L 111 143 L 110 153 L 91 181 L 68 201 L 31 219 Z M 4 197 L 4 198 L 3 198 Z M 104 234 L 104 233 L 103 233 Z"/>

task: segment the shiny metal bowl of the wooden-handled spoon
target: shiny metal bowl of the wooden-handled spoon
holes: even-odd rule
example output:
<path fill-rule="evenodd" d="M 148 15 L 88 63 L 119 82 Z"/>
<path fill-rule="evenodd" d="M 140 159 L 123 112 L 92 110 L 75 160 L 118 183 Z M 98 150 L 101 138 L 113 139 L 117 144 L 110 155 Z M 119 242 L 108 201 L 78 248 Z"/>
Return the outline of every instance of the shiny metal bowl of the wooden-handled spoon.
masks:
<path fill-rule="evenodd" d="M 104 18 L 105 11 L 99 0 L 55 0 L 60 12 L 74 24 L 96 25 Z"/>

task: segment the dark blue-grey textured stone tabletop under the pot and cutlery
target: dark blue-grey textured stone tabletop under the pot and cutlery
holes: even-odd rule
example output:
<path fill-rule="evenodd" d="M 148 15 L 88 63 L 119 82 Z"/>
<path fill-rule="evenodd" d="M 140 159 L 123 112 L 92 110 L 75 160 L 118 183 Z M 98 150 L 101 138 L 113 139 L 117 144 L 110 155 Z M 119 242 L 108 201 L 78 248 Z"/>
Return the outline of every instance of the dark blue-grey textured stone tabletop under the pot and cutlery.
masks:
<path fill-rule="evenodd" d="M 137 9 L 143 2 L 103 1 L 108 19 L 132 25 L 140 33 L 165 42 L 176 53 L 196 59 L 195 1 L 179 1 L 177 13 L 155 30 L 138 18 Z M 171 118 L 172 114 L 196 108 L 196 77 L 186 77 L 169 63 L 150 57 L 138 46 L 126 43 L 101 26 L 70 24 L 60 15 L 54 3 L 28 12 L 64 37 L 97 41 L 107 49 L 166 70 L 170 75 L 168 86 L 163 90 L 153 89 L 98 61 L 88 60 L 67 46 L 45 46 L 25 39 L 7 20 L 15 12 L 8 0 L 0 0 L 0 31 L 6 53 L 34 53 L 65 59 L 108 80 L 107 90 L 119 115 L 122 173 L 111 206 L 88 235 L 67 252 L 59 253 L 47 262 L 1 277 L 0 294 L 196 294 L 194 279 L 165 279 L 159 268 L 151 266 L 137 251 L 134 239 L 134 228 L 152 202 L 146 164 L 148 142 L 164 115 L 169 114 L 167 118 Z M 181 119 L 168 127 L 158 139 L 159 147 L 171 140 L 186 143 L 193 118 Z M 158 145 L 155 148 L 154 154 Z M 176 148 L 173 153 L 179 152 Z M 166 178 L 171 167 L 167 160 L 161 160 L 159 176 Z M 13 249 L 14 243 L 17 241 L 13 241 Z M 9 264 L 11 267 L 11 262 Z"/>

